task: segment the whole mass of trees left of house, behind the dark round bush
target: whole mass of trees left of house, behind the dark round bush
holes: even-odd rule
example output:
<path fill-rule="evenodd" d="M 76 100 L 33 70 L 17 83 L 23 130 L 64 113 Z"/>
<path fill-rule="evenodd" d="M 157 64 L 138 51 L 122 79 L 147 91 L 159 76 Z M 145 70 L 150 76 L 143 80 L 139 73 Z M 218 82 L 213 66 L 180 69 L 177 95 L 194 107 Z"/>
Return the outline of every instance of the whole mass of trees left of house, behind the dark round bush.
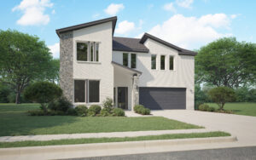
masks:
<path fill-rule="evenodd" d="M 60 60 L 44 41 L 20 31 L 0 31 L 0 102 L 26 102 L 23 91 L 38 81 L 59 82 Z"/>

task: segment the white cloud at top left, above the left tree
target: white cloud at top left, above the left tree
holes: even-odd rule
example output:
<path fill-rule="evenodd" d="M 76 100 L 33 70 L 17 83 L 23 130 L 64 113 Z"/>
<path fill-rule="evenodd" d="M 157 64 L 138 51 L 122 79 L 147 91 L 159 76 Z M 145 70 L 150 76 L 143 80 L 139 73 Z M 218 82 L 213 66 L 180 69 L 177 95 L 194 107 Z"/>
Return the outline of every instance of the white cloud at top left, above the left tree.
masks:
<path fill-rule="evenodd" d="M 17 20 L 18 25 L 47 25 L 49 23 L 49 14 L 44 14 L 44 10 L 52 6 L 53 3 L 50 3 L 50 0 L 23 0 L 12 11 L 20 10 L 23 13 L 20 20 Z"/>

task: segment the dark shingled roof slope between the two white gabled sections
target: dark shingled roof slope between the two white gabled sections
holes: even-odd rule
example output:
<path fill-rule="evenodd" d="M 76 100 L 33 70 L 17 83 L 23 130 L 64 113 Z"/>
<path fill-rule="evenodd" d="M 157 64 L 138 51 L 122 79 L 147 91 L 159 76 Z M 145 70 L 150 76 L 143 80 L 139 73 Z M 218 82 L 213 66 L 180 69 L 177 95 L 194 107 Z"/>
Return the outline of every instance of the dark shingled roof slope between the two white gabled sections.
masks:
<path fill-rule="evenodd" d="M 140 43 L 140 40 L 131 37 L 113 37 L 113 50 L 148 53 L 148 48 Z"/>

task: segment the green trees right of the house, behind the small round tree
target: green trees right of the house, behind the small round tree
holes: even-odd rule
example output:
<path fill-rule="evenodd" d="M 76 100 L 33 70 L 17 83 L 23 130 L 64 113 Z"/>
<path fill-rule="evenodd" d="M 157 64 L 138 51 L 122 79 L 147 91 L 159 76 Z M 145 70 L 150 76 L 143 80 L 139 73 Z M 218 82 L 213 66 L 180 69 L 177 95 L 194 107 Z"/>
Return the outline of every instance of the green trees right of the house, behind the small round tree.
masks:
<path fill-rule="evenodd" d="M 198 50 L 195 56 L 195 106 L 212 102 L 210 89 L 234 89 L 236 102 L 256 102 L 256 44 L 220 38 Z"/>

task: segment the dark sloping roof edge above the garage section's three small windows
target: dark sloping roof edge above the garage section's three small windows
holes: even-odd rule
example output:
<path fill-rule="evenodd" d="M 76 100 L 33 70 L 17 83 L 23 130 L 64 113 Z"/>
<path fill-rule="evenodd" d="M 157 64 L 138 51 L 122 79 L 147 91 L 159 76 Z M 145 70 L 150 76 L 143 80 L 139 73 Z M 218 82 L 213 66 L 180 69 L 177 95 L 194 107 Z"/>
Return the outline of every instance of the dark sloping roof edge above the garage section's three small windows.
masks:
<path fill-rule="evenodd" d="M 174 45 L 172 43 L 167 43 L 166 41 L 164 41 L 164 40 L 162 40 L 162 39 L 160 39 L 158 37 L 154 37 L 154 36 L 152 36 L 152 35 L 150 35 L 148 33 L 145 33 L 143 35 L 143 37 L 140 40 L 140 43 L 145 43 L 148 38 L 150 38 L 150 39 L 152 39 L 152 40 L 154 40 L 154 41 L 156 41 L 158 43 L 162 43 L 162 44 L 164 44 L 167 47 L 170 47 L 172 49 L 176 49 L 178 51 L 178 54 L 181 54 L 181 55 L 196 55 L 197 54 L 194 51 L 187 50 L 187 49 L 182 49 L 182 48 L 179 48 L 179 47 L 177 47 L 176 45 Z"/>

